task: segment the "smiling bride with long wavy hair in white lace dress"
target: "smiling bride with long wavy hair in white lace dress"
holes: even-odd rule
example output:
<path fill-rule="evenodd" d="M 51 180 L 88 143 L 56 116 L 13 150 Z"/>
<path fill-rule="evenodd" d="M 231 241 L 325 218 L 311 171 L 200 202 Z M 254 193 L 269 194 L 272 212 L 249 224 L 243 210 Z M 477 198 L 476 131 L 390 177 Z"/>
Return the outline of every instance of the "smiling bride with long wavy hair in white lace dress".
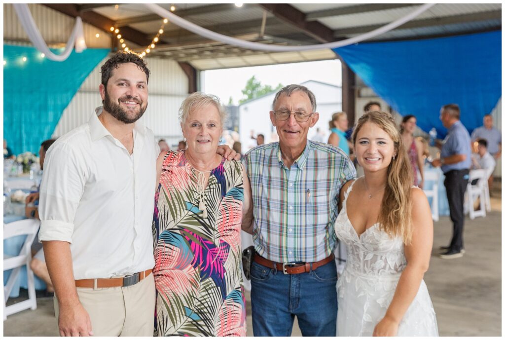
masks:
<path fill-rule="evenodd" d="M 352 142 L 365 176 L 340 190 L 335 233 L 347 263 L 337 281 L 337 335 L 438 336 L 423 280 L 433 221 L 393 118 L 367 112 Z"/>

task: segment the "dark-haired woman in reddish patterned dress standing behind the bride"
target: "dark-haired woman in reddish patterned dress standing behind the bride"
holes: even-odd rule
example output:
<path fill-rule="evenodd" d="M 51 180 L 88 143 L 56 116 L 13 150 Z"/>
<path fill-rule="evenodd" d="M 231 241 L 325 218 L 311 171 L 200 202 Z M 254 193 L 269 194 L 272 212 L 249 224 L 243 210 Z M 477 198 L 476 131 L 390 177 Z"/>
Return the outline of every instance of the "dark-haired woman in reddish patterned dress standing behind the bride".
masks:
<path fill-rule="evenodd" d="M 412 166 L 414 185 L 417 185 L 422 189 L 424 184 L 423 144 L 414 138 L 416 123 L 417 119 L 413 115 L 403 117 L 400 124 L 400 133 L 403 145 L 405 145 L 407 155 L 409 156 L 410 164 Z M 421 176 L 421 181 L 419 181 L 418 174 Z"/>

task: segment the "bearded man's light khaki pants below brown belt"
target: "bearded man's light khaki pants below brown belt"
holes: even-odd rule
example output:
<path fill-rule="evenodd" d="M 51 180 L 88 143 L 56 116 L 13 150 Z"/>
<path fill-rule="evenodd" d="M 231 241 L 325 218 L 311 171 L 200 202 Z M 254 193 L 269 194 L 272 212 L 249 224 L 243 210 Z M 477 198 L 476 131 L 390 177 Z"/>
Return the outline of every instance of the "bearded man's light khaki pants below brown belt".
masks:
<path fill-rule="evenodd" d="M 153 274 L 137 284 L 113 288 L 77 288 L 95 336 L 153 336 L 156 287 Z M 54 299 L 58 320 L 58 300 Z"/>

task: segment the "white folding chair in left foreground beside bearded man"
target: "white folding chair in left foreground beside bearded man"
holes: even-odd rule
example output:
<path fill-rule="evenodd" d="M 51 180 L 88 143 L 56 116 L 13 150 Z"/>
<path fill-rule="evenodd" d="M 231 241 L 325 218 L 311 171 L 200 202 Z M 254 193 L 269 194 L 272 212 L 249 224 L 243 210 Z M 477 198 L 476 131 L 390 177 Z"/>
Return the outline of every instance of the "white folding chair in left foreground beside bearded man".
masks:
<path fill-rule="evenodd" d="M 4 321 L 8 315 L 20 312 L 30 308 L 32 311 L 37 309 L 37 299 L 35 297 L 35 279 L 33 271 L 30 268 L 31 245 L 37 234 L 39 220 L 28 219 L 4 224 L 4 240 L 14 236 L 26 235 L 26 240 L 21 247 L 18 256 L 8 256 L 4 254 L 4 271 L 12 269 L 7 284 L 4 286 Z M 7 306 L 7 300 L 11 294 L 12 288 L 18 279 L 21 267 L 26 266 L 26 276 L 28 278 L 28 300 Z"/>

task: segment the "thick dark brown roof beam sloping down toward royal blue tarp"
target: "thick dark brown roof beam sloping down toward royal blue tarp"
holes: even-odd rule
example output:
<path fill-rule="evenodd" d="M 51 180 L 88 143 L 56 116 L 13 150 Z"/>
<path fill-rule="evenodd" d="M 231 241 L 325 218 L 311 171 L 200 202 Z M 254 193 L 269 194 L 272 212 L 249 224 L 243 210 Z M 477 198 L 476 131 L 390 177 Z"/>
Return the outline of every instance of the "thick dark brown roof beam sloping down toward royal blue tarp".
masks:
<path fill-rule="evenodd" d="M 288 4 L 259 4 L 274 16 L 320 42 L 333 41 L 333 31 L 318 21 L 307 21 L 307 15 Z"/>

